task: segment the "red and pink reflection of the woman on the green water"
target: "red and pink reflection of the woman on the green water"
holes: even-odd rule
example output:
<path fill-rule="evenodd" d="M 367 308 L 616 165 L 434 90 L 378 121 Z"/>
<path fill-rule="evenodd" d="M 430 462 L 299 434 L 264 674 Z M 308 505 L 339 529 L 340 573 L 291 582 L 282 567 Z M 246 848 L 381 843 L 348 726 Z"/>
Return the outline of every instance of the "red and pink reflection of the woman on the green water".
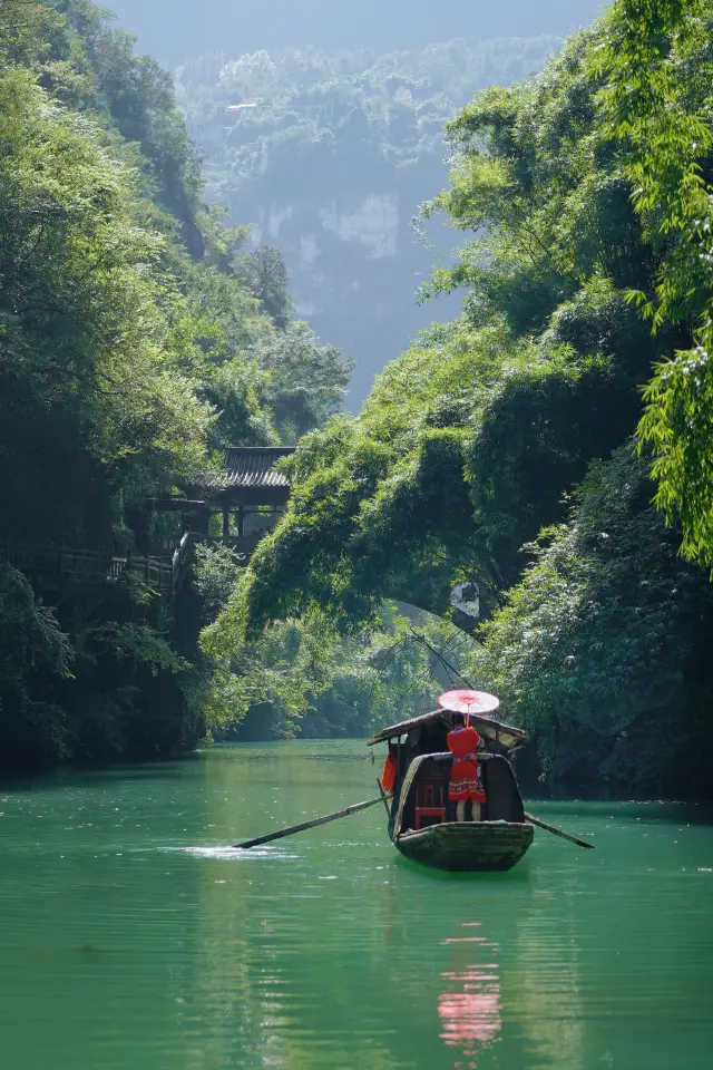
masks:
<path fill-rule="evenodd" d="M 445 941 L 457 961 L 455 970 L 441 973 L 448 988 L 438 999 L 439 1035 L 449 1048 L 459 1049 L 455 1070 L 477 1070 L 478 1056 L 500 1040 L 502 1029 L 498 946 L 472 932 L 479 925 L 467 923 L 463 927 L 472 935 Z M 481 961 L 473 962 L 476 957 Z M 461 965 L 458 960 L 467 962 Z"/>

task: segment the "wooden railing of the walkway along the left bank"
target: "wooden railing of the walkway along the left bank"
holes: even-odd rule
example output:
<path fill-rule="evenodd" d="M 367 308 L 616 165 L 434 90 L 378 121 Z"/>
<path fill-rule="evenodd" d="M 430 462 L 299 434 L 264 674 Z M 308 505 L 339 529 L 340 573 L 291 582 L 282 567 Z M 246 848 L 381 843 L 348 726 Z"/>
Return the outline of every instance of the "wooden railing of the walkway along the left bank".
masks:
<path fill-rule="evenodd" d="M 130 574 L 153 591 L 173 597 L 180 590 L 191 568 L 191 533 L 186 532 L 170 558 L 145 557 L 138 554 L 117 557 L 94 549 L 4 543 L 0 544 L 0 562 L 14 565 L 28 575 L 89 584 L 111 583 Z"/>

